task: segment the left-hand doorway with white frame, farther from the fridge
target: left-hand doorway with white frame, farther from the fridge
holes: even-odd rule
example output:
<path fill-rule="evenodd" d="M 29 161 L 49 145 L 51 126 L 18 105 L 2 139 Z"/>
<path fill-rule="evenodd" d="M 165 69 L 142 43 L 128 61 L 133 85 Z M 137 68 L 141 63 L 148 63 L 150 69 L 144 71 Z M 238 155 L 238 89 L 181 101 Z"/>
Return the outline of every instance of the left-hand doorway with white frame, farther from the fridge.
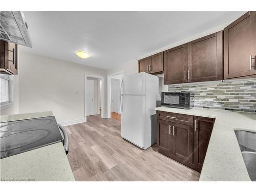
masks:
<path fill-rule="evenodd" d="M 84 94 L 84 115 L 99 115 L 105 118 L 104 112 L 104 78 L 93 75 L 85 77 L 85 94 Z"/>

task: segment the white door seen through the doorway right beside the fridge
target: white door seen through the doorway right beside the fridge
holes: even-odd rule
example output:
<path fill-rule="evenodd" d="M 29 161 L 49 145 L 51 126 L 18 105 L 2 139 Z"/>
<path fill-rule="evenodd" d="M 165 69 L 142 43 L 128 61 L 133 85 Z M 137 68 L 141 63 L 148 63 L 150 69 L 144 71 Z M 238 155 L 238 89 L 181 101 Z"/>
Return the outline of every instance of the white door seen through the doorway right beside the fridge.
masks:
<path fill-rule="evenodd" d="M 120 81 L 111 83 L 111 111 L 119 113 Z"/>

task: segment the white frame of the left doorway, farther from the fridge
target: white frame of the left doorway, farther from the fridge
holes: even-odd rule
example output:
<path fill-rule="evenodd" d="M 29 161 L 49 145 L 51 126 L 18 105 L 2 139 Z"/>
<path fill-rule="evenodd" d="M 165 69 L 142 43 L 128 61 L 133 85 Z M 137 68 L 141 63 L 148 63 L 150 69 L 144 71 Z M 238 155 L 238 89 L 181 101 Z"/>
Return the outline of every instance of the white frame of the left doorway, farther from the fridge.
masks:
<path fill-rule="evenodd" d="M 87 77 L 98 78 L 101 80 L 101 118 L 105 118 L 105 78 L 103 76 L 84 74 L 84 119 L 87 122 L 87 102 L 86 102 L 86 88 L 87 88 Z M 97 108 L 99 109 L 99 93 L 98 93 L 98 101 Z"/>

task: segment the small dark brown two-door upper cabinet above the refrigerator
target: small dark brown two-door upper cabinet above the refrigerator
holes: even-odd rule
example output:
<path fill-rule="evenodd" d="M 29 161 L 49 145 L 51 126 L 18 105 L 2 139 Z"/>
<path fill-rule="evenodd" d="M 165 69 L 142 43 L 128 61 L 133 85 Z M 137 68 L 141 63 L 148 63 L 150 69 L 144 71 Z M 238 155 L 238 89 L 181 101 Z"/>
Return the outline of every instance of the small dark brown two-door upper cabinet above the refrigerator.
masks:
<path fill-rule="evenodd" d="M 138 60 L 138 73 L 163 73 L 163 52 Z"/>

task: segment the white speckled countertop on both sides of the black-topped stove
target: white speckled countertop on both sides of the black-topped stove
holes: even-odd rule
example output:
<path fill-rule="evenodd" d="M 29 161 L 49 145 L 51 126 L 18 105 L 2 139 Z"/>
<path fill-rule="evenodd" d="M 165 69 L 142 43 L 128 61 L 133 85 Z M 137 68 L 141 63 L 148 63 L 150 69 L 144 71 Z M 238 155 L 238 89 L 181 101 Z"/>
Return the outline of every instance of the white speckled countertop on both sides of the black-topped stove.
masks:
<path fill-rule="evenodd" d="M 52 112 L 0 116 L 1 122 L 53 116 Z M 62 142 L 0 159 L 1 181 L 75 181 Z"/>

